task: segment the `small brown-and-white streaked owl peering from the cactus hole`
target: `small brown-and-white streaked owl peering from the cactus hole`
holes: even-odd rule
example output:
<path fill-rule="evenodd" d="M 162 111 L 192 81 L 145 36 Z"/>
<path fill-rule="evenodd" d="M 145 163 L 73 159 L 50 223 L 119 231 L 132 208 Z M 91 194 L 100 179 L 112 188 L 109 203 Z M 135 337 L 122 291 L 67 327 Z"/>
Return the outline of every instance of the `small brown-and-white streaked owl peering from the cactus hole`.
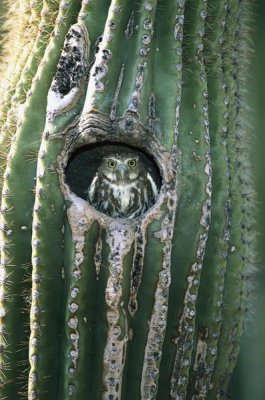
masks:
<path fill-rule="evenodd" d="M 135 218 L 156 201 L 158 186 L 144 157 L 129 150 L 105 154 L 88 188 L 88 201 L 113 218 Z"/>

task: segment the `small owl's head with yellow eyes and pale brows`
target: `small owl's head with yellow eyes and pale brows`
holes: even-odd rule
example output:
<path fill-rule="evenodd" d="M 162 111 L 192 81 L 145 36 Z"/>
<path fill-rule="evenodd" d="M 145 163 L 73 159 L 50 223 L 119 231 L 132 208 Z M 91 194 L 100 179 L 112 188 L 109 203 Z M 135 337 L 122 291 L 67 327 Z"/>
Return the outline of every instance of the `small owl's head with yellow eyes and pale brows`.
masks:
<path fill-rule="evenodd" d="M 102 158 L 98 173 L 108 181 L 129 184 L 137 180 L 144 172 L 144 165 L 140 157 L 132 152 L 109 153 Z"/>

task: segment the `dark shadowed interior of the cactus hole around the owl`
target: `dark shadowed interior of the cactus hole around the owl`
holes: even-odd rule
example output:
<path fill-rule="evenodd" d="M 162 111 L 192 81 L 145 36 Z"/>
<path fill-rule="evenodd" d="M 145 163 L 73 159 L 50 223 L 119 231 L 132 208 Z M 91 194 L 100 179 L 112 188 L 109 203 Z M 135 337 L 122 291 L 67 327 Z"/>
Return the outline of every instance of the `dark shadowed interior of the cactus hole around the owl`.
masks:
<path fill-rule="evenodd" d="M 130 152 L 139 155 L 147 171 L 152 176 L 158 191 L 161 188 L 162 178 L 154 159 L 139 149 L 127 145 L 104 143 L 83 146 L 77 149 L 69 158 L 65 171 L 66 183 L 78 197 L 87 200 L 88 189 L 98 170 L 103 157 L 114 151 Z"/>

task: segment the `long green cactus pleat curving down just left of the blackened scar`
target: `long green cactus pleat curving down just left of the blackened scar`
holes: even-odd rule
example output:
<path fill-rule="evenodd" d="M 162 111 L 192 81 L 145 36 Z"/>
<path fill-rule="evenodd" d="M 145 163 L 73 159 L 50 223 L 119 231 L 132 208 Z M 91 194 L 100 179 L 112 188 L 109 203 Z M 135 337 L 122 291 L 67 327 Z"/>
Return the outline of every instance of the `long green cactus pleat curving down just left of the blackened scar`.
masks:
<path fill-rule="evenodd" d="M 54 36 L 46 49 L 43 63 L 36 73 L 31 91 L 28 93 L 23 123 L 19 124 L 16 139 L 13 140 L 3 179 L 1 263 L 2 266 L 5 266 L 5 272 L 3 272 L 1 282 L 4 284 L 1 325 L 4 332 L 1 339 L 1 357 L 2 377 L 5 377 L 6 382 L 12 382 L 15 377 L 21 375 L 22 379 L 23 376 L 27 379 L 23 372 L 26 368 L 25 360 L 28 353 L 25 343 L 27 343 L 29 335 L 28 301 L 31 271 L 27 268 L 31 264 L 31 213 L 34 201 L 32 194 L 36 167 L 32 168 L 33 162 L 28 160 L 26 155 L 34 155 L 38 152 L 39 137 L 44 128 L 47 92 L 56 71 L 65 34 L 77 12 L 78 7 L 75 5 L 61 3 L 62 17 L 65 16 L 64 23 L 55 26 Z M 41 76 L 43 76 L 43 79 L 41 79 Z M 41 112 L 43 113 L 42 118 Z M 18 187 L 16 179 L 18 171 L 23 171 L 19 185 L 25 188 L 20 196 L 15 194 Z M 14 220 L 16 221 L 15 225 Z M 10 254 L 9 249 L 12 247 L 15 248 Z M 12 276 L 12 284 L 9 281 L 10 276 Z M 13 312 L 18 313 L 16 329 L 14 329 L 14 321 L 6 318 Z M 8 337 L 8 346 L 6 346 L 6 337 Z M 25 381 L 17 381 L 15 385 L 7 384 L 3 393 L 1 393 L 1 397 L 14 398 L 16 393 L 23 390 L 24 386 Z"/>

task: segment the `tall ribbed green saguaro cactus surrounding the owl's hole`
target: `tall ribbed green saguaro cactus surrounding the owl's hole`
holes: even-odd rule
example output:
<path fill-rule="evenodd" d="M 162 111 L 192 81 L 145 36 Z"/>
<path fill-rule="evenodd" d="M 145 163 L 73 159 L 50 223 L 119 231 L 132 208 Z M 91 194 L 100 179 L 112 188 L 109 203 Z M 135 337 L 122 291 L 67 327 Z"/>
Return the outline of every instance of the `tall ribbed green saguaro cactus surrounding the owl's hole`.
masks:
<path fill-rule="evenodd" d="M 250 0 L 20 0 L 12 13 L 1 399 L 227 399 L 252 264 Z M 143 154 L 160 182 L 137 218 L 87 201 L 110 146 Z"/>

